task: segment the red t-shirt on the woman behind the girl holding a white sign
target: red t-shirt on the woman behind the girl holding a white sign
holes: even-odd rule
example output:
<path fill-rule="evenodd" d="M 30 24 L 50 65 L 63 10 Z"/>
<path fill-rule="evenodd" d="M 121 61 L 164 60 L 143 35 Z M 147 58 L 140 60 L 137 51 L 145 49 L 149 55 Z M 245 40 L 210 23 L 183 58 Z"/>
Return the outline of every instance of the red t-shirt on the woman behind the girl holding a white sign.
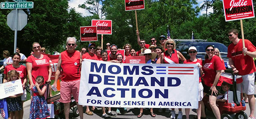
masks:
<path fill-rule="evenodd" d="M 8 73 L 10 70 L 16 70 L 17 72 L 20 73 L 20 79 L 21 79 L 21 82 L 22 82 L 22 84 L 23 84 L 23 82 L 24 82 L 24 76 L 27 76 L 27 75 L 28 75 L 26 66 L 20 65 L 20 67 L 15 68 L 15 67 L 13 67 L 12 65 L 7 65 L 7 66 L 4 68 L 4 74 L 6 74 L 6 75 L 8 76 L 7 73 Z"/>

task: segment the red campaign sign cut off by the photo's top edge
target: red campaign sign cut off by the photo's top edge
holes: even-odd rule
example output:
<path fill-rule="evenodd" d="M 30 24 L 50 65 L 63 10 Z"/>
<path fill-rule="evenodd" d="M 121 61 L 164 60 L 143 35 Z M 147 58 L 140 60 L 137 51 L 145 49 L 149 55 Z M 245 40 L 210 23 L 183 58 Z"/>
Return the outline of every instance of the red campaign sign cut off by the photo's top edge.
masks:
<path fill-rule="evenodd" d="M 124 0 L 125 11 L 145 9 L 144 0 Z"/>

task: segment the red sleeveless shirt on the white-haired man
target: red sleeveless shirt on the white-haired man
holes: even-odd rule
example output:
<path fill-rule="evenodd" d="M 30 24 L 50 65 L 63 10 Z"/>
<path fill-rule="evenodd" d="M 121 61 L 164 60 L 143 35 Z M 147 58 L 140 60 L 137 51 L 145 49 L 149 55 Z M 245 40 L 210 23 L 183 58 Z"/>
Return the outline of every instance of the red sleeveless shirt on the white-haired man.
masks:
<path fill-rule="evenodd" d="M 62 81 L 80 80 L 80 52 L 68 53 L 63 51 L 61 55 Z M 84 54 L 85 55 L 85 54 Z"/>

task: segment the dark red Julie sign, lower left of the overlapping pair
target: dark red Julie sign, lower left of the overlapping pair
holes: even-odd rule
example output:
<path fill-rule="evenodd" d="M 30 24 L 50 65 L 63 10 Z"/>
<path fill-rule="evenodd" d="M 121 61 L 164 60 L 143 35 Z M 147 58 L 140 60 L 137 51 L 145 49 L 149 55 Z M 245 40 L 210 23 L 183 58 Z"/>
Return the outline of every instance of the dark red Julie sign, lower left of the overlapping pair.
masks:
<path fill-rule="evenodd" d="M 81 41 L 98 41 L 96 26 L 81 26 L 80 27 Z"/>

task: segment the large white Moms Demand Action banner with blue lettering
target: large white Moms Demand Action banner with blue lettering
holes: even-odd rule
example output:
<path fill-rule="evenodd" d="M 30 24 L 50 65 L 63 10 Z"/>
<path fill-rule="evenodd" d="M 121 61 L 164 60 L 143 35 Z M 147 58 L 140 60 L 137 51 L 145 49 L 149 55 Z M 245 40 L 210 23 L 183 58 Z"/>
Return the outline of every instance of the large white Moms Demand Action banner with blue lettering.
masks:
<path fill-rule="evenodd" d="M 84 59 L 80 105 L 198 108 L 196 64 L 119 64 Z"/>

